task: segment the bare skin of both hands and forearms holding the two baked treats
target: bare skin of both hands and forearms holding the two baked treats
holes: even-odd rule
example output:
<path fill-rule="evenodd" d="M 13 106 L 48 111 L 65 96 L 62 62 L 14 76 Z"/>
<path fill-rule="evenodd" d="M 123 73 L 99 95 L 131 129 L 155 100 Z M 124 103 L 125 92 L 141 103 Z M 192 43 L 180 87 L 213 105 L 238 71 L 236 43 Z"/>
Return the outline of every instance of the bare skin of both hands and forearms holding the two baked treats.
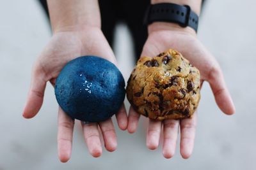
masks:
<path fill-rule="evenodd" d="M 81 55 L 98 55 L 116 64 L 115 56 L 100 30 L 99 6 L 95 0 L 48 0 L 53 36 L 36 60 L 32 71 L 31 88 L 23 111 L 25 118 L 32 118 L 40 110 L 47 81 L 54 85 L 61 69 L 68 61 Z M 154 3 L 188 4 L 196 13 L 200 13 L 201 1 L 153 1 Z M 175 42 L 175 43 L 173 43 Z M 196 32 L 190 27 L 182 28 L 177 24 L 154 22 L 148 26 L 148 39 L 141 56 L 154 56 L 168 48 L 181 52 L 201 73 L 201 81 L 208 81 L 216 103 L 227 115 L 232 115 L 235 108 L 225 85 L 220 66 L 204 45 L 196 38 Z M 140 115 L 132 108 L 127 115 L 124 107 L 116 113 L 120 129 L 135 132 Z M 116 149 L 116 134 L 111 119 L 104 122 L 82 124 L 83 134 L 89 152 L 93 157 L 102 154 L 100 133 L 108 151 Z M 175 153 L 177 134 L 180 127 L 180 153 L 188 158 L 193 150 L 196 113 L 191 119 L 149 120 L 147 146 L 156 149 L 163 126 L 163 155 L 170 158 Z M 61 162 L 67 162 L 71 156 L 74 120 L 62 110 L 58 113 L 58 155 Z"/>

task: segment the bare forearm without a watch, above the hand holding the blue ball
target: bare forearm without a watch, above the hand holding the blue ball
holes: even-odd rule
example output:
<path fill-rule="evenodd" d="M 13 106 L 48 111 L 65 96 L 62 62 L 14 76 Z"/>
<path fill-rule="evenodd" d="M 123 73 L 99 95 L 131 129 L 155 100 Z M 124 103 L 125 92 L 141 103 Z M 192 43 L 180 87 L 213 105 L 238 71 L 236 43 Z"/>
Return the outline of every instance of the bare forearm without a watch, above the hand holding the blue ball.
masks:
<path fill-rule="evenodd" d="M 96 0 L 47 0 L 52 31 L 100 28 L 99 4 Z"/>

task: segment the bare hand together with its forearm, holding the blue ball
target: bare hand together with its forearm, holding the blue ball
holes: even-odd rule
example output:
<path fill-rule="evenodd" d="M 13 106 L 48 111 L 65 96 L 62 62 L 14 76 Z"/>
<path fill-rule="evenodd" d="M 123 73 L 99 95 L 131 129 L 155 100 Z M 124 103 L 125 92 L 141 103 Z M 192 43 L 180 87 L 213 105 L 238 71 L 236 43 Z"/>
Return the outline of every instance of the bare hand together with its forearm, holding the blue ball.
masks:
<path fill-rule="evenodd" d="M 23 111 L 24 118 L 35 117 L 40 110 L 47 81 L 54 86 L 61 69 L 72 59 L 83 55 L 96 55 L 113 62 L 116 59 L 108 41 L 100 30 L 99 4 L 95 0 L 47 1 L 52 38 L 36 60 L 28 99 Z M 104 111 L 104 110 L 102 110 Z M 124 105 L 116 113 L 120 129 L 127 129 L 127 113 Z M 111 118 L 104 122 L 83 124 L 84 141 L 93 157 L 102 154 L 100 136 L 109 152 L 116 150 L 116 133 Z M 74 120 L 61 108 L 58 111 L 58 156 L 67 162 L 71 156 Z"/>

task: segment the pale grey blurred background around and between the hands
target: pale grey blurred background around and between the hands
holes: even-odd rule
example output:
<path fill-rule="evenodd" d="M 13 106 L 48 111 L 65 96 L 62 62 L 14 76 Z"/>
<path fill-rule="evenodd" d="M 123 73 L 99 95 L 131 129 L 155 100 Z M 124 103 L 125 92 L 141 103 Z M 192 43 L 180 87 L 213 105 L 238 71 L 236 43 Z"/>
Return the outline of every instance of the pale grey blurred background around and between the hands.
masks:
<path fill-rule="evenodd" d="M 236 114 L 224 115 L 216 106 L 208 83 L 198 108 L 195 148 L 190 159 L 177 152 L 164 159 L 161 147 L 145 145 L 145 118 L 135 134 L 115 122 L 118 148 L 93 158 L 87 151 L 79 124 L 74 132 L 72 158 L 58 160 L 56 134 L 58 104 L 47 85 L 44 105 L 31 120 L 22 118 L 31 67 L 51 38 L 51 30 L 35 0 L 0 1 L 0 170 L 13 169 L 256 169 L 256 1 L 207 1 L 198 38 L 223 69 L 236 105 Z M 127 81 L 134 58 L 131 34 L 116 27 L 115 54 Z M 125 101 L 128 108 L 129 104 Z"/>

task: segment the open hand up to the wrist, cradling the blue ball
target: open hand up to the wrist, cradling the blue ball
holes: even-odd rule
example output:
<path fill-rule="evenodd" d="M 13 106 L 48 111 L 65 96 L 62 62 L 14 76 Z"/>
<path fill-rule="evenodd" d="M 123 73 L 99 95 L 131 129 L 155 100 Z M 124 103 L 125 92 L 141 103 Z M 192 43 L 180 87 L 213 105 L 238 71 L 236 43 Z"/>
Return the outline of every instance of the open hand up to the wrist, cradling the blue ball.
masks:
<path fill-rule="evenodd" d="M 97 55 L 116 65 L 113 51 L 98 27 L 83 27 L 83 29 L 67 27 L 54 32 L 51 41 L 33 67 L 31 87 L 23 111 L 24 118 L 33 118 L 40 110 L 47 81 L 50 81 L 54 86 L 56 78 L 65 64 L 83 55 Z M 125 130 L 127 128 L 127 114 L 124 105 L 116 113 L 116 119 L 120 129 Z M 82 123 L 82 126 L 86 145 L 93 157 L 99 157 L 102 154 L 101 133 L 106 150 L 113 152 L 116 149 L 116 134 L 111 118 L 99 122 L 99 124 Z M 61 162 L 67 162 L 70 159 L 73 129 L 74 120 L 59 108 L 58 155 Z"/>

